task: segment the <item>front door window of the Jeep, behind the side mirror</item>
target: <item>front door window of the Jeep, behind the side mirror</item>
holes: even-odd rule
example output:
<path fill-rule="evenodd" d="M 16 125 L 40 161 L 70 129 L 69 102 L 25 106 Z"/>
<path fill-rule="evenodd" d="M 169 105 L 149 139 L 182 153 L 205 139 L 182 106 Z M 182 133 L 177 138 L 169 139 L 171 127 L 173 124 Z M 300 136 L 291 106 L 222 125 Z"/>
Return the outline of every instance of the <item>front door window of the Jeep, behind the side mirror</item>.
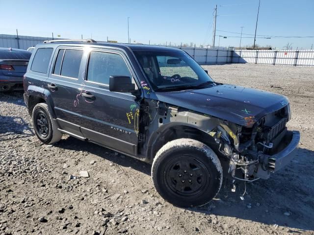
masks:
<path fill-rule="evenodd" d="M 128 66 L 121 55 L 92 51 L 90 52 L 87 80 L 102 84 L 109 84 L 109 77 L 123 75 L 132 77 Z"/>

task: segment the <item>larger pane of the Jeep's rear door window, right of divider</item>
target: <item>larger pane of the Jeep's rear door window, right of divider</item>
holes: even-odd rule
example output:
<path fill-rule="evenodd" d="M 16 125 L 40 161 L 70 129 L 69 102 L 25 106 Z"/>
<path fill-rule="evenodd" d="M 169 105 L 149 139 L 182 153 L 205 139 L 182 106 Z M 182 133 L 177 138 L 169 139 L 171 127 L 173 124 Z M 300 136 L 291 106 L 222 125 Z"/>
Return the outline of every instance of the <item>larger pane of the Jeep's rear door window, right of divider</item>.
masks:
<path fill-rule="evenodd" d="M 80 61 L 82 59 L 83 50 L 66 49 L 61 67 L 61 76 L 78 78 Z"/>

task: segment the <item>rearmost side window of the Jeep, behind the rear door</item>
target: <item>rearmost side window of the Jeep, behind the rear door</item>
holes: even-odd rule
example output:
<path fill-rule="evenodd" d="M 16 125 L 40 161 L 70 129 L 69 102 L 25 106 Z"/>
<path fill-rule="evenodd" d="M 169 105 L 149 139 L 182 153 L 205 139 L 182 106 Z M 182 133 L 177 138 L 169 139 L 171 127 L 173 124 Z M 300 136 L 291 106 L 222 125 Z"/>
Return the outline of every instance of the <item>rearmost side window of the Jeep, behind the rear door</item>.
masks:
<path fill-rule="evenodd" d="M 52 48 L 37 49 L 30 70 L 35 72 L 47 73 L 52 51 Z"/>

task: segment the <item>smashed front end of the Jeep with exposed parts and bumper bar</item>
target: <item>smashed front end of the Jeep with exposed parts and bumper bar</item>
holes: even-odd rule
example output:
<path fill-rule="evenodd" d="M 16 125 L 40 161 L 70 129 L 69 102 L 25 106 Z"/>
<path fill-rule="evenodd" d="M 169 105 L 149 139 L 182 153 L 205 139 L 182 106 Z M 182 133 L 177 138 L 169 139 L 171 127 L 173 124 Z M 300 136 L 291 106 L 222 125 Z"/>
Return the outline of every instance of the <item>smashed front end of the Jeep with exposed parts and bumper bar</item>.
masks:
<path fill-rule="evenodd" d="M 300 141 L 298 131 L 288 131 L 290 107 L 286 105 L 255 120 L 246 117 L 243 126 L 223 122 L 209 134 L 219 145 L 221 155 L 229 159 L 228 172 L 234 179 L 268 179 L 290 163 L 290 154 Z"/>

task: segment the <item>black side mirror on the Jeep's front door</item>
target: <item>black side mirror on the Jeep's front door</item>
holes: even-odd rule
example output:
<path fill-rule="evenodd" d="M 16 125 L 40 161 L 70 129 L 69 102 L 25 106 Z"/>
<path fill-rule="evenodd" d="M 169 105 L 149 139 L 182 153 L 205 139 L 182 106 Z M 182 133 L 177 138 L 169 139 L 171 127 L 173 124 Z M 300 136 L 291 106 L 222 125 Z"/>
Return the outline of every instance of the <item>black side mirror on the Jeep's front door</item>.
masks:
<path fill-rule="evenodd" d="M 123 92 L 132 93 L 135 90 L 135 84 L 129 76 L 110 76 L 109 78 L 109 91 L 110 92 Z"/>

